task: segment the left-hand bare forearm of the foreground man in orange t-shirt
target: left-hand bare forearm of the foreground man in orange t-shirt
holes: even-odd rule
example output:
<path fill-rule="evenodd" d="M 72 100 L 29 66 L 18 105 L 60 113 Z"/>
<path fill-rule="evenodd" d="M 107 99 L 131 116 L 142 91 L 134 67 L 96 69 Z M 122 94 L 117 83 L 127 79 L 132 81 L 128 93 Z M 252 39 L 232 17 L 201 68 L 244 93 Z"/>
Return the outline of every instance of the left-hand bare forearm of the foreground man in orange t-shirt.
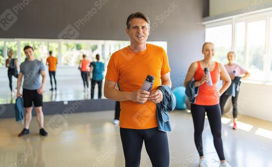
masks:
<path fill-rule="evenodd" d="M 127 101 L 130 100 L 131 92 L 123 92 L 116 90 L 115 88 L 108 88 L 104 95 L 106 98 L 113 99 L 115 101 Z"/>

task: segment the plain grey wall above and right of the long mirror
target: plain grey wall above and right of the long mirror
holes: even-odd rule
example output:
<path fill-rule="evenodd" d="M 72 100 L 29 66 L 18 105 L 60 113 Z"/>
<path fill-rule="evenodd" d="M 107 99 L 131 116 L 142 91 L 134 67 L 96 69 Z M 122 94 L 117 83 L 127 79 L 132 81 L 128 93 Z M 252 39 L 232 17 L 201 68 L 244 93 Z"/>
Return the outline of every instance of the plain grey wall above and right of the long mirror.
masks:
<path fill-rule="evenodd" d="M 98 9 L 101 6 L 95 3 L 103 1 L 106 2 L 105 5 Z M 56 39 L 67 25 L 75 24 L 79 19 L 83 19 L 88 11 L 95 8 L 96 14 L 87 23 L 81 24 L 79 29 L 76 29 L 79 34 L 76 33 L 76 36 L 72 37 L 128 40 L 125 34 L 126 18 L 132 12 L 140 11 L 149 16 L 153 27 L 157 27 L 153 29 L 148 40 L 167 41 L 169 63 L 172 68 L 171 78 L 173 86 L 178 86 L 182 84 L 189 64 L 202 58 L 201 45 L 204 42 L 205 29 L 201 19 L 209 13 L 208 2 L 208 0 L 1 1 L 0 13 L 6 15 L 10 12 L 7 9 L 10 9 L 15 16 L 9 22 L 11 27 L 7 31 L 0 28 L 0 38 Z M 18 8 L 20 3 L 28 5 L 25 7 L 21 5 L 20 9 Z M 177 7 L 169 14 L 165 11 L 172 3 Z M 163 13 L 169 15 L 164 15 L 164 19 L 161 19 L 160 15 Z M 2 17 L 3 14 L 0 21 Z"/>

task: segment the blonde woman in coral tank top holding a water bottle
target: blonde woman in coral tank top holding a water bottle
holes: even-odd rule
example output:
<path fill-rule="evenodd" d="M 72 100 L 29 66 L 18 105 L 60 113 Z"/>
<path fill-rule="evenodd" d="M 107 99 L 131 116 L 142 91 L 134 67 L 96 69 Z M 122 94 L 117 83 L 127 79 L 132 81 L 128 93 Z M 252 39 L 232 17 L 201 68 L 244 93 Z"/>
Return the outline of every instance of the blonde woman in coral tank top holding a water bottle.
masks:
<path fill-rule="evenodd" d="M 219 97 L 223 94 L 231 84 L 231 79 L 225 67 L 213 60 L 215 56 L 215 46 L 212 42 L 205 42 L 202 46 L 203 60 L 193 62 L 187 72 L 184 86 L 186 82 L 194 79 L 195 86 L 199 86 L 199 92 L 194 104 L 191 104 L 191 114 L 194 125 L 194 143 L 199 153 L 200 167 L 208 166 L 203 156 L 202 131 L 205 122 L 205 113 L 207 112 L 211 131 L 214 137 L 214 145 L 220 158 L 220 167 L 230 167 L 226 162 L 223 142 L 221 138 L 221 109 L 219 105 Z M 224 85 L 217 90 L 216 84 L 220 78 L 224 81 Z"/>

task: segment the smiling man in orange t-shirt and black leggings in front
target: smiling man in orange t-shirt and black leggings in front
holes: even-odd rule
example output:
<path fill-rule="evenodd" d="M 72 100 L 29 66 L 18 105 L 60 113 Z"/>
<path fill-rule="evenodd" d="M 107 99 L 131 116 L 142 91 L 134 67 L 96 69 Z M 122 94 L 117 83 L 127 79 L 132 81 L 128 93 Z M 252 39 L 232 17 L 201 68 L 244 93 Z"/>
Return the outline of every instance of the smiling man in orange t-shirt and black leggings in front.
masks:
<path fill-rule="evenodd" d="M 156 103 L 163 99 L 160 85 L 171 87 L 170 67 L 162 47 L 147 44 L 150 20 L 140 12 L 128 16 L 126 33 L 130 45 L 114 52 L 107 68 L 104 96 L 120 101 L 120 136 L 125 166 L 140 166 L 141 150 L 146 150 L 153 166 L 169 166 L 166 132 L 158 130 Z M 142 90 L 147 77 L 155 77 L 151 91 Z M 119 83 L 120 90 L 115 89 Z"/>

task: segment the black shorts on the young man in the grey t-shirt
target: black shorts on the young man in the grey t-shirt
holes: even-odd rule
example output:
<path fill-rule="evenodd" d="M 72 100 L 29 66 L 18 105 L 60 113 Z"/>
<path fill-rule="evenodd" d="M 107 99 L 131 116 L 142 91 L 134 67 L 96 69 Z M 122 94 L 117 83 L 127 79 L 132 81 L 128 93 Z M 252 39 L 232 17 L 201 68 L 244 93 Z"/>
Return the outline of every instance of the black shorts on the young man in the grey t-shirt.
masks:
<path fill-rule="evenodd" d="M 32 107 L 32 102 L 35 107 L 42 106 L 42 94 L 37 90 L 23 89 L 24 107 Z"/>

